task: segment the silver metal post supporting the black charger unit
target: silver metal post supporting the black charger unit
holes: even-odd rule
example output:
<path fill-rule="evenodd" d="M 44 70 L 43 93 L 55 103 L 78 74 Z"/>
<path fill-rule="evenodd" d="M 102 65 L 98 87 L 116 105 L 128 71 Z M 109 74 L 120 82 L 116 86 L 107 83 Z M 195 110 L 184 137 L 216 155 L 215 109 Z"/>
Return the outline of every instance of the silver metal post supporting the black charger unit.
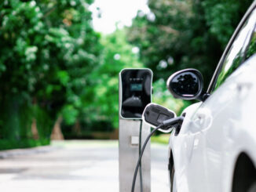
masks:
<path fill-rule="evenodd" d="M 133 174 L 139 158 L 139 135 L 141 120 L 119 118 L 119 191 L 131 190 Z M 150 134 L 150 126 L 142 123 L 141 147 Z M 144 150 L 141 161 L 142 185 L 144 192 L 151 191 L 151 153 L 150 141 Z M 140 172 L 137 174 L 134 191 L 141 191 Z"/>

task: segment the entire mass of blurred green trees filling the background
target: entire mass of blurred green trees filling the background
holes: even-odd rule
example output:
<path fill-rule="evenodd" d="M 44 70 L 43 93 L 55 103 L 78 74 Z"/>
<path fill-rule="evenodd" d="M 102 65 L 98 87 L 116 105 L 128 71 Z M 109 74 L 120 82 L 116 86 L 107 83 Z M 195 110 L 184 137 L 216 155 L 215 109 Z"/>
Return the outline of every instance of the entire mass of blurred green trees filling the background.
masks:
<path fill-rule="evenodd" d="M 181 113 L 166 78 L 187 67 L 208 85 L 252 0 L 148 0 L 131 27 L 93 30 L 93 0 L 0 2 L 0 149 L 48 144 L 53 125 L 67 139 L 118 128 L 118 74 L 154 72 L 155 103 Z M 207 86 L 205 86 L 207 87 Z"/>

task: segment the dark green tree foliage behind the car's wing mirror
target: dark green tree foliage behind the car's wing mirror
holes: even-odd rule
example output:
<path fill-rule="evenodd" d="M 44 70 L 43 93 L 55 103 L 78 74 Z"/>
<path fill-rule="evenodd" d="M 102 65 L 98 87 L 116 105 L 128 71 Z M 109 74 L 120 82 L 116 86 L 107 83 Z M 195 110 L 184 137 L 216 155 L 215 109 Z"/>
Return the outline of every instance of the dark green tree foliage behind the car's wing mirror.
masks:
<path fill-rule="evenodd" d="M 156 78 L 193 67 L 205 83 L 217 66 L 225 45 L 251 0 L 148 1 L 150 13 L 137 13 L 130 42 L 141 49 L 141 60 Z"/>

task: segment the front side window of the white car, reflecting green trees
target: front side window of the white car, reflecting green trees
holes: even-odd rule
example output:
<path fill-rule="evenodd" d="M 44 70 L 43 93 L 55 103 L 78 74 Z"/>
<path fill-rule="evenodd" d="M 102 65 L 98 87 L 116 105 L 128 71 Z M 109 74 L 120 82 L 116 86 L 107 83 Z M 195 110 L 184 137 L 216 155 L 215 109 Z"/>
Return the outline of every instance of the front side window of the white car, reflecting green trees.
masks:
<path fill-rule="evenodd" d="M 240 29 L 240 32 L 237 34 L 234 42 L 232 43 L 229 52 L 225 56 L 225 60 L 222 64 L 221 71 L 218 75 L 218 79 L 214 89 L 217 89 L 225 79 L 232 74 L 233 71 L 240 66 L 240 63 L 244 59 L 244 55 L 247 50 L 247 45 L 249 45 L 249 49 L 247 51 L 248 57 L 250 57 L 250 45 L 251 51 L 253 52 L 253 42 L 250 42 L 251 33 L 254 30 L 256 21 L 256 9 L 251 13 L 251 16 L 247 19 L 247 21 L 243 24 L 243 27 Z M 254 37 L 255 40 L 255 37 Z M 249 44 L 250 42 L 250 44 Z M 247 56 L 246 56 L 247 57 Z M 247 58 L 248 58 L 247 57 Z"/>

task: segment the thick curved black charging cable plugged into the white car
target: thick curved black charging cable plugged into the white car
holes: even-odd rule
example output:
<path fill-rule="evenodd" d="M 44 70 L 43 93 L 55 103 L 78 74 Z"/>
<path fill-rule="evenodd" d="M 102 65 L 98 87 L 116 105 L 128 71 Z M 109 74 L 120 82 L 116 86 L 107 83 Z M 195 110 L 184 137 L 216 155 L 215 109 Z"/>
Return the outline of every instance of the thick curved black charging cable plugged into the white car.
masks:
<path fill-rule="evenodd" d="M 148 135 L 147 139 L 145 139 L 143 147 L 141 148 L 141 155 L 137 160 L 137 165 L 134 171 L 134 175 L 133 175 L 133 185 L 132 185 L 132 190 L 131 192 L 134 192 L 134 187 L 135 187 L 135 183 L 136 183 L 136 177 L 137 177 L 137 171 L 139 169 L 139 166 L 141 164 L 141 158 L 143 156 L 144 153 L 144 149 L 148 143 L 148 140 L 150 139 L 150 137 L 158 130 L 158 129 L 169 129 L 171 126 L 177 125 L 177 124 L 181 124 L 184 120 L 184 117 L 178 117 L 178 118 L 170 118 L 166 121 L 163 121 L 160 125 L 158 125 L 155 129 L 152 130 L 152 132 L 150 132 L 150 134 Z"/>

